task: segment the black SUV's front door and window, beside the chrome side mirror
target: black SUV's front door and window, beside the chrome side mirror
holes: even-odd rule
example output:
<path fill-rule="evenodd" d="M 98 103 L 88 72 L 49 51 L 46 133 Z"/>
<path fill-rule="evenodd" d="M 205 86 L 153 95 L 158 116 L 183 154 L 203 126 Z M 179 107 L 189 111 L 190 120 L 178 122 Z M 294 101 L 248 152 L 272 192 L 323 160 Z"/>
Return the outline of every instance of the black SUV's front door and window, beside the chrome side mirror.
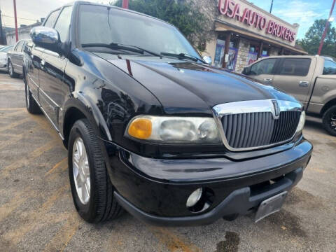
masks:
<path fill-rule="evenodd" d="M 61 42 L 68 36 L 72 6 L 62 8 L 54 28 L 59 32 Z M 43 110 L 58 130 L 59 109 L 64 102 L 62 83 L 68 59 L 64 55 L 45 49 L 41 55 L 40 102 Z"/>

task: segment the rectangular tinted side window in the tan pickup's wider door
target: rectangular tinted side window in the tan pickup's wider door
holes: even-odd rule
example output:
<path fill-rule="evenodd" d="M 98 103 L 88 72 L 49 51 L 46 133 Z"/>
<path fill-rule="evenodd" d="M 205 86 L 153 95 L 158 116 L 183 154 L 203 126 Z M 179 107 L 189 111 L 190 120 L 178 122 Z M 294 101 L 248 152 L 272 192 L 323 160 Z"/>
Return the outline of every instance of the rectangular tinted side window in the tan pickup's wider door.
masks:
<path fill-rule="evenodd" d="M 279 75 L 307 76 L 311 59 L 286 58 L 279 68 Z"/>

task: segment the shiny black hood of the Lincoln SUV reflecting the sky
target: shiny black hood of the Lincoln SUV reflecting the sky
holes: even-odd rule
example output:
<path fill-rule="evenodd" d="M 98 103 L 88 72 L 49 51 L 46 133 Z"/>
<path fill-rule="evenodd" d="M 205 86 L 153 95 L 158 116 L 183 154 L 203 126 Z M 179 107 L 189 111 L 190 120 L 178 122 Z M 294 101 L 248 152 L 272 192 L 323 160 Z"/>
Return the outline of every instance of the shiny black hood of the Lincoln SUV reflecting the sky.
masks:
<path fill-rule="evenodd" d="M 165 113 L 211 113 L 217 104 L 246 100 L 295 100 L 273 87 L 206 64 L 158 57 L 109 57 L 109 62 L 151 91 Z"/>

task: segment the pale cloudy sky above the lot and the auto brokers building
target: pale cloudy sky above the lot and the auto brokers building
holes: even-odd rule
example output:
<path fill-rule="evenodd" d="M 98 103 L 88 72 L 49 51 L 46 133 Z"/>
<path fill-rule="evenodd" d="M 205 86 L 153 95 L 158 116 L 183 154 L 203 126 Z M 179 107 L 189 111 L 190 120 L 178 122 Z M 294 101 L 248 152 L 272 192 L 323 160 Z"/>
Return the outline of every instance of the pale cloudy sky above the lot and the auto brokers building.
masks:
<path fill-rule="evenodd" d="M 18 25 L 30 25 L 55 8 L 71 0 L 16 0 Z M 113 0 L 90 0 L 109 3 Z M 271 0 L 251 0 L 256 6 L 269 11 Z M 314 20 L 328 18 L 332 0 L 274 0 L 272 14 L 293 24 L 300 25 L 297 38 L 303 38 Z M 13 0 L 0 0 L 3 25 L 14 27 Z M 336 9 L 333 16 L 336 20 Z M 335 27 L 334 22 L 333 26 Z"/>

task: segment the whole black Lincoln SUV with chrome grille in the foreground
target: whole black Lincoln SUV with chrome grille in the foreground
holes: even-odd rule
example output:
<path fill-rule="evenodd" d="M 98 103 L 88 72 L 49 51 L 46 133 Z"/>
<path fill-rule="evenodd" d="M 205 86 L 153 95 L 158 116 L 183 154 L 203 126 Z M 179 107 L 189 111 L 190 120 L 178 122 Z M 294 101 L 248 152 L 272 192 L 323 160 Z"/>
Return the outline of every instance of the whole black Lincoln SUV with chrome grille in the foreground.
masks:
<path fill-rule="evenodd" d="M 293 97 L 211 67 L 178 29 L 78 1 L 52 11 L 25 48 L 27 110 L 69 153 L 85 221 L 126 209 L 158 225 L 279 211 L 312 146 Z"/>

